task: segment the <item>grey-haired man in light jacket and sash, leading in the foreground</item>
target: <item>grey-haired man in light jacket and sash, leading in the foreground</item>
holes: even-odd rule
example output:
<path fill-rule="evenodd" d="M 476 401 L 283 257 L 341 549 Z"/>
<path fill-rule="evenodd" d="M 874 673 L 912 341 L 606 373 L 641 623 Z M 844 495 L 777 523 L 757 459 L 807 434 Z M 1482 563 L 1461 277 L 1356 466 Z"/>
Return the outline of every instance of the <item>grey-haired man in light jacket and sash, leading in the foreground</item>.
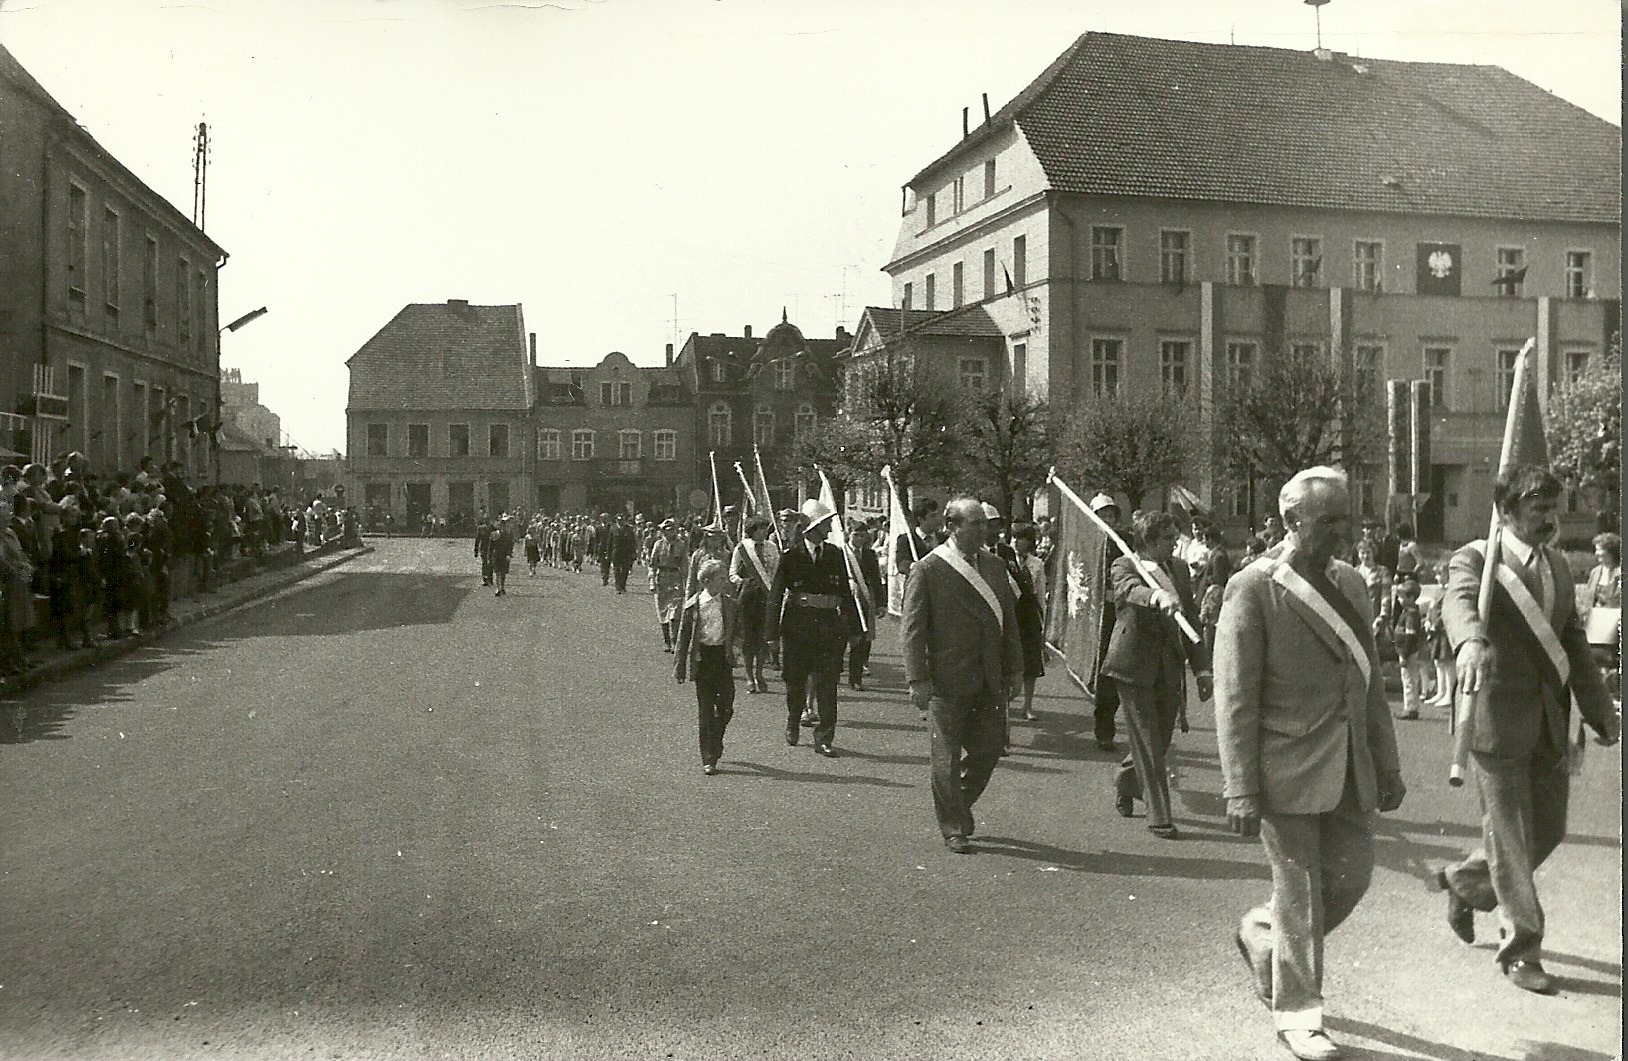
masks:
<path fill-rule="evenodd" d="M 1322 1027 L 1324 936 L 1356 910 L 1374 869 L 1372 812 L 1407 786 L 1348 545 L 1345 475 L 1314 467 L 1278 495 L 1281 545 L 1232 576 L 1216 627 L 1216 742 L 1228 823 L 1260 833 L 1271 900 L 1234 941 L 1302 1061 L 1340 1048 Z"/>

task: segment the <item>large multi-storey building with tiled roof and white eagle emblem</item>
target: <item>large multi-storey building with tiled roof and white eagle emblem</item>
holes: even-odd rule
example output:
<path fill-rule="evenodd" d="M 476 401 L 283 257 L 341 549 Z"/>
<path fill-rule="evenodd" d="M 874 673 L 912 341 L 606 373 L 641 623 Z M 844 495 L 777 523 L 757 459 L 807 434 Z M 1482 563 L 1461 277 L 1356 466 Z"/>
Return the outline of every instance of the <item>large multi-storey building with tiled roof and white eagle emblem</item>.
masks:
<path fill-rule="evenodd" d="M 1208 426 L 1291 347 L 1426 379 L 1418 522 L 1462 540 L 1512 351 L 1553 384 L 1620 327 L 1620 184 L 1618 127 L 1498 67 L 1086 33 L 905 184 L 886 272 L 895 306 L 982 303 L 1008 386 L 1053 404 L 1162 387 Z M 1185 485 L 1239 526 L 1275 490 Z"/>

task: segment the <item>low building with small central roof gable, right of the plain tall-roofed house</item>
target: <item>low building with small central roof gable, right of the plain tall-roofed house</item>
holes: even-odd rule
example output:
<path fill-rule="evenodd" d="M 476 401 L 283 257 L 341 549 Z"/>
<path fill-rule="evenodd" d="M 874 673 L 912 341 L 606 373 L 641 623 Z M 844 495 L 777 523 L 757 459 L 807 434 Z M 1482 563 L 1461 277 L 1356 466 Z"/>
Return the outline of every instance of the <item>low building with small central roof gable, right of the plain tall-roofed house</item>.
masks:
<path fill-rule="evenodd" d="M 539 368 L 536 392 L 539 511 L 689 511 L 695 402 L 677 369 L 615 350 L 593 368 Z"/>

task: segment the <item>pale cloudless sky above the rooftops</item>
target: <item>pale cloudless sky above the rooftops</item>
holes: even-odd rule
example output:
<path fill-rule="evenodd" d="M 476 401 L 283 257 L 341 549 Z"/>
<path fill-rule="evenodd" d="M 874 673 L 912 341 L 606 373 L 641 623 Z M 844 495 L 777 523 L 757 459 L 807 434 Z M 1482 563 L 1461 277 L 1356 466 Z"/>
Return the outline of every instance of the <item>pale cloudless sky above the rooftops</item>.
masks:
<path fill-rule="evenodd" d="M 1311 49 L 1299 0 L 0 0 L 0 42 L 231 254 L 288 438 L 407 303 L 523 303 L 545 365 L 887 304 L 900 186 L 1088 29 Z M 1504 67 L 1621 124 L 1613 0 L 1332 0 L 1343 52 Z"/>

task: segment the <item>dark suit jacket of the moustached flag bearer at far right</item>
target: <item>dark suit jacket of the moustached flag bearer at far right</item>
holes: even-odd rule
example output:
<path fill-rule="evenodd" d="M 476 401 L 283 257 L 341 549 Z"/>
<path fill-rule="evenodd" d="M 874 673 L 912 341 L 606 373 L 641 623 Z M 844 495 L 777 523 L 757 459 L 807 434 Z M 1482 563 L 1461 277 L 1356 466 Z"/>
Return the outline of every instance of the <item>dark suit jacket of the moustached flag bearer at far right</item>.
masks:
<path fill-rule="evenodd" d="M 1607 724 L 1613 713 L 1610 693 L 1600 679 L 1600 670 L 1589 651 L 1589 640 L 1578 618 L 1576 587 L 1571 583 L 1571 566 L 1555 548 L 1540 545 L 1555 578 L 1555 607 L 1550 623 L 1560 638 L 1566 659 L 1571 661 L 1569 693 L 1553 680 L 1547 657 L 1540 659 L 1527 631 L 1525 620 L 1516 610 L 1503 586 L 1493 587 L 1493 607 L 1486 625 L 1481 625 L 1477 600 L 1481 591 L 1481 555 L 1485 542 L 1465 545 L 1452 555 L 1447 566 L 1447 587 L 1441 597 L 1441 622 L 1447 630 L 1454 651 L 1472 636 L 1486 638 L 1491 653 L 1491 679 L 1486 693 L 1478 701 L 1475 731 L 1470 749 L 1486 755 L 1527 757 L 1537 749 L 1540 726 L 1548 727 L 1550 747 L 1566 747 L 1571 727 L 1571 698 L 1576 696 L 1582 718 L 1595 731 Z M 1527 581 L 1525 571 L 1504 553 L 1501 563 Z M 1527 583 L 1532 599 L 1542 607 L 1538 586 Z"/>

